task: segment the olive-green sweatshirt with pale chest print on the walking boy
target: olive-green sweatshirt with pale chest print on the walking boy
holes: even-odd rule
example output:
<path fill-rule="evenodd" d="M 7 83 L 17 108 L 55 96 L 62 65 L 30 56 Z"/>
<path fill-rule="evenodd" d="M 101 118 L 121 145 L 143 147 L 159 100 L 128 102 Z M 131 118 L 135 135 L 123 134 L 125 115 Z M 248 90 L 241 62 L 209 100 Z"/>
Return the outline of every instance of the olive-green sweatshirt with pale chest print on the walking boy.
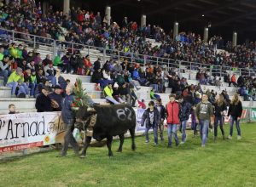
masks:
<path fill-rule="evenodd" d="M 211 120 L 211 116 L 213 114 L 212 104 L 207 101 L 207 103 L 203 103 L 202 101 L 196 105 L 195 108 L 195 116 L 199 120 Z"/>

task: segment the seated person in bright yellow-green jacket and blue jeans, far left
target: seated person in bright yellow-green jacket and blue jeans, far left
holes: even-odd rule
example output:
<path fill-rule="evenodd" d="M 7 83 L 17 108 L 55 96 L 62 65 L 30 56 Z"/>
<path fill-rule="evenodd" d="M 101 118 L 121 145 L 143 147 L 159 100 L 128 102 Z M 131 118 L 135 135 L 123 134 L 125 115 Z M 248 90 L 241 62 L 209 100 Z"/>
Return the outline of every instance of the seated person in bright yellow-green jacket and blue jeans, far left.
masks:
<path fill-rule="evenodd" d="M 26 83 L 24 83 L 24 75 L 22 72 L 22 69 L 18 67 L 14 72 L 11 73 L 9 76 L 9 79 L 7 81 L 7 87 L 12 88 L 11 94 L 12 96 L 15 96 L 16 88 L 19 86 L 19 92 L 25 94 L 25 96 L 28 94 L 28 88 L 26 86 Z"/>

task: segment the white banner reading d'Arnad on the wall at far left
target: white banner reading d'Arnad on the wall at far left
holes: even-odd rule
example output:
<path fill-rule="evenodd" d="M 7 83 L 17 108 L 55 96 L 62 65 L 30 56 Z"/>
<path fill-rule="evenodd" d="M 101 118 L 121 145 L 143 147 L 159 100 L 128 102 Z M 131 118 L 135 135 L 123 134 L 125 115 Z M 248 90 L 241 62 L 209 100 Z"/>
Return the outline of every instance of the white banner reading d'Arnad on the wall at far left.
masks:
<path fill-rule="evenodd" d="M 61 143 L 60 112 L 0 115 L 0 153 Z"/>

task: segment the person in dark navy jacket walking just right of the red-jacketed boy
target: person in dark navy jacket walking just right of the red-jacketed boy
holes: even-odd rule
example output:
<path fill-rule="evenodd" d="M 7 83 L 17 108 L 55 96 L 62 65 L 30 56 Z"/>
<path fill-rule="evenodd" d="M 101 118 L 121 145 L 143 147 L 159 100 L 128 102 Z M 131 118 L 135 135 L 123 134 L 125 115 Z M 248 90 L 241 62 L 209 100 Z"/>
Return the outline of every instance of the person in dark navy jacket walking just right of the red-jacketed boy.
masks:
<path fill-rule="evenodd" d="M 181 144 L 184 144 L 187 139 L 186 127 L 187 127 L 187 122 L 189 120 L 191 111 L 192 111 L 192 105 L 189 102 L 189 96 L 181 98 L 181 110 L 179 113 L 179 119 L 181 122 L 181 127 L 183 132 Z"/>

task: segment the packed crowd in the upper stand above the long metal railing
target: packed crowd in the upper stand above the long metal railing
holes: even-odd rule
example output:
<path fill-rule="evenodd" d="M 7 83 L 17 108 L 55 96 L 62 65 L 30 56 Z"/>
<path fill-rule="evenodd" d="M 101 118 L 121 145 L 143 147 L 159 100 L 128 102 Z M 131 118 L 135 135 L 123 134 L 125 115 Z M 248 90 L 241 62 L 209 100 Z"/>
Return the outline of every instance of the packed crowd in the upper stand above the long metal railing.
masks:
<path fill-rule="evenodd" d="M 49 6 L 43 15 L 40 3 L 20 5 L 12 1 L 8 6 L 2 4 L 1 11 L 1 26 L 23 32 L 20 37 L 28 40 L 32 39 L 27 35 L 30 33 L 62 42 L 77 42 L 119 50 L 126 56 L 133 54 L 134 58 L 139 58 L 139 54 L 146 54 L 207 65 L 241 68 L 255 66 L 255 42 L 231 48 L 230 42 L 225 43 L 222 37 L 214 36 L 209 44 L 205 45 L 201 36 L 193 32 L 181 32 L 173 40 L 172 31 L 166 33 L 160 26 L 140 27 L 137 22 L 130 21 L 127 17 L 120 25 L 112 20 L 111 26 L 108 26 L 107 19 L 102 17 L 100 12 L 94 14 L 74 7 L 71 8 L 70 14 L 63 14 L 62 11 L 54 11 L 54 8 Z M 151 42 L 147 42 L 148 37 L 154 38 L 160 45 L 153 46 Z M 217 48 L 230 49 L 232 53 L 217 54 Z"/>

